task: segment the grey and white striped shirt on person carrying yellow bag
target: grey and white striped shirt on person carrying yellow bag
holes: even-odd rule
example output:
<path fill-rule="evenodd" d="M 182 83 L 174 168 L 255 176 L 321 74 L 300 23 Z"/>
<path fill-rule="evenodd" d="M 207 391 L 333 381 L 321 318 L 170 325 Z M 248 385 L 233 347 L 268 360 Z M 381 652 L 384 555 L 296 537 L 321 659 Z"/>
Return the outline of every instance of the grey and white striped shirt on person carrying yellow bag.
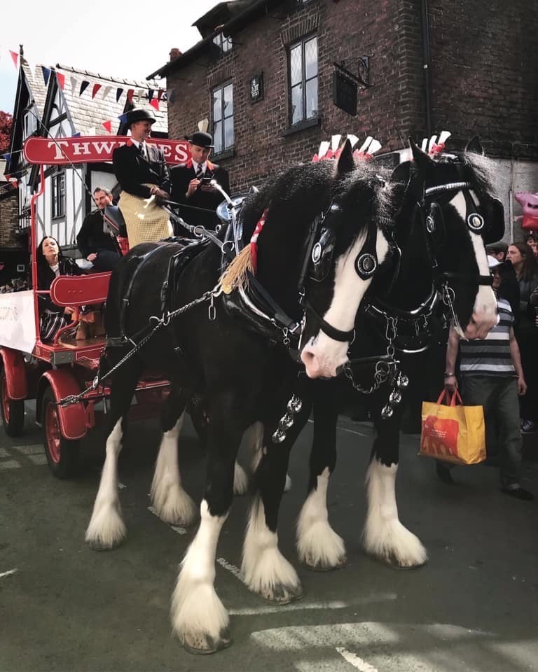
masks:
<path fill-rule="evenodd" d="M 497 298 L 499 323 L 485 339 L 460 341 L 460 372 L 464 376 L 517 377 L 510 351 L 512 309 L 508 301 Z"/>

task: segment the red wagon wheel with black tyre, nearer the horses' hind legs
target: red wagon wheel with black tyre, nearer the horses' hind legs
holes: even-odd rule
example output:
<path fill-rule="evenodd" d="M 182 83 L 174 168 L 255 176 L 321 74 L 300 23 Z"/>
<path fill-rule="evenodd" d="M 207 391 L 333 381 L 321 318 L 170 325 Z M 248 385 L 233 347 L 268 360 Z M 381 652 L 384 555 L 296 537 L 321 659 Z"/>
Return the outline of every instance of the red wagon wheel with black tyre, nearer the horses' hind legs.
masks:
<path fill-rule="evenodd" d="M 45 454 L 48 466 L 57 478 L 71 478 L 78 469 L 80 441 L 69 441 L 62 435 L 60 413 L 52 388 L 43 395 L 41 423 L 45 432 Z"/>

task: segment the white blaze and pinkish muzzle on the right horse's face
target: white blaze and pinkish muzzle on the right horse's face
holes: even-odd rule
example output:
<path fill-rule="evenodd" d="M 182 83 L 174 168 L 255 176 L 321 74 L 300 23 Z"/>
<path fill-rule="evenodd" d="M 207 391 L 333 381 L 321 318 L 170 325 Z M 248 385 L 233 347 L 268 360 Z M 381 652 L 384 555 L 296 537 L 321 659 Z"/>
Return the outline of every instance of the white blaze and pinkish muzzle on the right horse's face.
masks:
<path fill-rule="evenodd" d="M 476 194 L 473 191 L 470 191 L 469 194 L 474 203 L 478 204 Z M 467 216 L 467 203 L 465 202 L 465 197 L 462 192 L 458 192 L 450 203 L 455 207 L 457 214 L 459 214 L 465 221 Z M 490 274 L 488 255 L 485 251 L 482 236 L 479 233 L 473 233 L 470 230 L 469 235 L 471 236 L 471 243 L 473 244 L 474 255 L 478 265 L 478 274 L 488 276 Z M 497 322 L 497 300 L 495 299 L 495 293 L 488 285 L 478 286 L 478 292 L 476 293 L 476 300 L 474 302 L 473 318 L 474 330 L 476 330 L 476 332 L 490 330 Z M 465 335 L 464 331 L 466 328 L 467 325 L 462 324 L 461 328 L 457 329 L 460 337 L 473 337 L 474 332 L 468 332 L 468 334 Z M 483 335 L 485 335 L 485 332 Z"/>

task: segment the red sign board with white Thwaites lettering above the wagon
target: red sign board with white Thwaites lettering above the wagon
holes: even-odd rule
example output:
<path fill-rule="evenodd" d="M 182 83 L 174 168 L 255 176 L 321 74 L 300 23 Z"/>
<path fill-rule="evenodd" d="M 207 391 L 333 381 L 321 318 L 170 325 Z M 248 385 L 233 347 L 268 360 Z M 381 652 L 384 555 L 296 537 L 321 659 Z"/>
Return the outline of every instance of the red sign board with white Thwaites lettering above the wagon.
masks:
<path fill-rule="evenodd" d="M 111 161 L 116 147 L 127 144 L 126 135 L 92 135 L 76 138 L 29 138 L 25 142 L 25 159 L 29 163 L 46 166 L 69 163 L 97 163 Z M 186 140 L 150 138 L 158 146 L 169 164 L 185 163 L 191 158 L 191 148 Z"/>

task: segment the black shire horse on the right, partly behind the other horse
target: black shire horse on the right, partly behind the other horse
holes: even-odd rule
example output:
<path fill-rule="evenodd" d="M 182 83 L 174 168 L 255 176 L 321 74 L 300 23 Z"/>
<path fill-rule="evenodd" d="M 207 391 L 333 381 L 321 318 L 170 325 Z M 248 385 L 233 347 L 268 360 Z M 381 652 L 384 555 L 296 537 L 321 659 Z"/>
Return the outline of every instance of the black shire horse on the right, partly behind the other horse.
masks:
<path fill-rule="evenodd" d="M 345 376 L 303 379 L 298 388 L 303 412 L 289 437 L 293 441 L 298 435 L 313 406 L 314 439 L 296 540 L 299 558 L 313 568 L 345 563 L 344 542 L 328 521 L 326 491 L 336 465 L 338 414 L 351 414 L 357 403 L 368 406 L 375 428 L 364 547 L 392 566 L 410 568 L 427 560 L 420 540 L 399 521 L 396 506 L 400 388 L 425 365 L 418 351 L 432 336 L 439 309 L 465 337 L 483 337 L 495 323 L 484 244 L 502 237 L 504 212 L 492 195 L 490 166 L 476 143 L 471 141 L 465 153 L 435 159 L 413 145 L 414 161 L 396 168 L 391 240 L 396 253 L 380 268 L 361 304 Z M 315 337 L 311 328 L 303 332 L 307 347 L 302 350 L 309 374 L 305 353 L 308 343 L 315 347 L 315 338 L 308 341 Z"/>

